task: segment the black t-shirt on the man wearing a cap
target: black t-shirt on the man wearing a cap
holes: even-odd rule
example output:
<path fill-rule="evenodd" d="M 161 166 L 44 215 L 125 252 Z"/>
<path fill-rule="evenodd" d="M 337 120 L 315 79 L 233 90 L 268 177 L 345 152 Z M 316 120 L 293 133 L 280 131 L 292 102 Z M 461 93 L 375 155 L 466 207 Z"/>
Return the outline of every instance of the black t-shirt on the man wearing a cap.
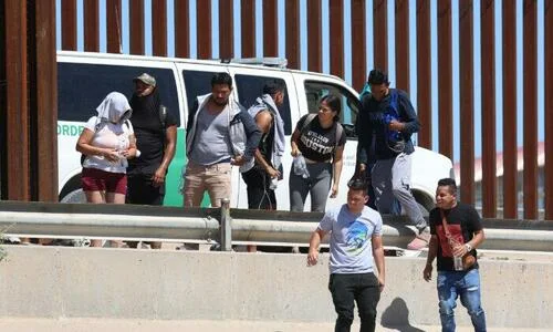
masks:
<path fill-rule="evenodd" d="M 175 116 L 167 112 L 165 128 L 159 120 L 161 101 L 157 90 L 145 97 L 133 95 L 131 98 L 133 124 L 136 136 L 136 148 L 140 156 L 128 160 L 127 174 L 154 174 L 163 162 L 165 152 L 165 129 L 177 124 Z"/>

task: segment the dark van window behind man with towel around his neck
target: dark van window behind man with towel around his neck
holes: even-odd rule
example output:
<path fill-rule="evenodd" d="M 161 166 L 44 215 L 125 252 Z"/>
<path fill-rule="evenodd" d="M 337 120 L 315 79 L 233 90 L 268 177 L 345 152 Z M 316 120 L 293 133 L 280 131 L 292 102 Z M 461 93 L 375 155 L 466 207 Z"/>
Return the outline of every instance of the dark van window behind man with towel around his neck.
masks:
<path fill-rule="evenodd" d="M 268 76 L 253 76 L 253 75 L 234 75 L 234 81 L 237 82 L 238 98 L 240 104 L 246 108 L 249 108 L 255 102 L 255 98 L 263 94 L 263 86 L 267 81 L 279 81 L 284 86 L 286 83 L 282 79 L 268 77 Z M 286 92 L 289 91 L 286 86 Z M 279 113 L 284 121 L 284 134 L 291 135 L 292 124 L 290 118 L 290 98 L 288 93 L 284 94 L 284 102 L 279 106 Z"/>

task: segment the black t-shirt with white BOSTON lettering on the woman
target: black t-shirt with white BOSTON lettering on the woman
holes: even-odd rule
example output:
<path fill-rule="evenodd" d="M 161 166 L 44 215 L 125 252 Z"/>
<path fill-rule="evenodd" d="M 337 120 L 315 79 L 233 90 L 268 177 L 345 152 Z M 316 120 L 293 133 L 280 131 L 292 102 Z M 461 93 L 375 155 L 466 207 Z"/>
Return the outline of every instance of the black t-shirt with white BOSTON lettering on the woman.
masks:
<path fill-rule="evenodd" d="M 307 115 L 304 115 L 298 122 L 295 127 L 300 132 L 300 138 L 298 139 L 298 148 L 302 155 L 313 162 L 328 162 L 334 156 L 334 151 L 336 146 L 344 146 L 346 143 L 345 131 L 342 131 L 342 136 L 336 144 L 336 127 L 341 124 L 334 122 L 334 125 L 330 128 L 321 127 L 319 122 L 319 116 L 315 116 L 307 127 L 302 131 L 303 124 Z"/>

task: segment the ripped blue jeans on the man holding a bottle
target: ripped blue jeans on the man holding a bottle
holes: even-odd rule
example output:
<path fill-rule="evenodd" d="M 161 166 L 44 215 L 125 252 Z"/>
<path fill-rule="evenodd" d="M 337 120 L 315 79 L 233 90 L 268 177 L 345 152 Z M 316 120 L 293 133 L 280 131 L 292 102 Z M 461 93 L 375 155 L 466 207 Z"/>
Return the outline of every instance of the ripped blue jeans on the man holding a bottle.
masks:
<path fill-rule="evenodd" d="M 457 307 L 457 297 L 460 297 L 461 304 L 467 308 L 474 331 L 484 332 L 486 315 L 480 303 L 480 273 L 478 269 L 438 271 L 437 283 L 441 331 L 455 331 L 453 309 Z"/>

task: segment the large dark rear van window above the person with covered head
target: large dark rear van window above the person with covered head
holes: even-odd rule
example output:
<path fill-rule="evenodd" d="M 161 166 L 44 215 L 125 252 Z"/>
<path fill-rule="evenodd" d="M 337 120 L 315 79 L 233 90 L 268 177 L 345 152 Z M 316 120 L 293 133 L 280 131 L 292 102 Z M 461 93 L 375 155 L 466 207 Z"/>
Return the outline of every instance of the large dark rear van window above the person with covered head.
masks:
<path fill-rule="evenodd" d="M 131 101 L 133 79 L 142 73 L 156 77 L 161 102 L 179 126 L 177 86 L 171 70 L 88 63 L 58 63 L 58 120 L 87 121 L 96 115 L 96 107 L 113 91 L 123 93 Z"/>

